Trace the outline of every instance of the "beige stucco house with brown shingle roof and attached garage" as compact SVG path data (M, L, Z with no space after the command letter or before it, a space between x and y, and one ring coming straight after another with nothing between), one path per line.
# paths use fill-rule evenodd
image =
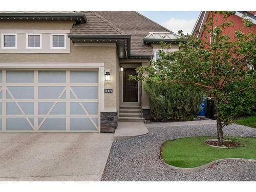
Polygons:
M135 11L1 11L0 130L114 132L149 114L141 82L165 37Z

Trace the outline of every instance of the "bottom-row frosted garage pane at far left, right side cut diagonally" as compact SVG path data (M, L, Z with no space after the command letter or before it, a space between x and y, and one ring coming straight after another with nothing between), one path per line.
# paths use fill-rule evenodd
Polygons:
M33 131L26 118L6 118L7 131Z

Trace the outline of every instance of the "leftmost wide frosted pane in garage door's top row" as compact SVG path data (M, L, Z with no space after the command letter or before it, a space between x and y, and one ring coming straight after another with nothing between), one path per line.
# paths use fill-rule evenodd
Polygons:
M8 83L33 83L34 71L6 71Z

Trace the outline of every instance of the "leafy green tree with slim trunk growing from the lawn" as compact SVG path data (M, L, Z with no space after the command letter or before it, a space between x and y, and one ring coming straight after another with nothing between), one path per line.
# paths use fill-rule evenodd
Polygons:
M216 14L223 15L220 25L215 25ZM234 12L211 11L204 24L210 42L206 40L208 36L200 39L179 31L178 51L160 50L161 59L153 61L149 67L137 69L139 74L147 75L130 77L137 81L157 79L159 83L194 86L213 96L219 145L223 145L223 127L230 124L234 116L255 108L255 31L244 34L241 29L235 32L234 39L230 39L223 31L233 25L228 20L232 14ZM243 22L244 28L253 25L246 17L243 17ZM161 47L168 50L171 45L161 42Z

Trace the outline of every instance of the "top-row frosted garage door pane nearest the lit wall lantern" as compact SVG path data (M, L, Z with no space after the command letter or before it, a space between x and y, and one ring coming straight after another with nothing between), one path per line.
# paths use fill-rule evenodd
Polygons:
M98 83L98 71L70 71L71 83Z

